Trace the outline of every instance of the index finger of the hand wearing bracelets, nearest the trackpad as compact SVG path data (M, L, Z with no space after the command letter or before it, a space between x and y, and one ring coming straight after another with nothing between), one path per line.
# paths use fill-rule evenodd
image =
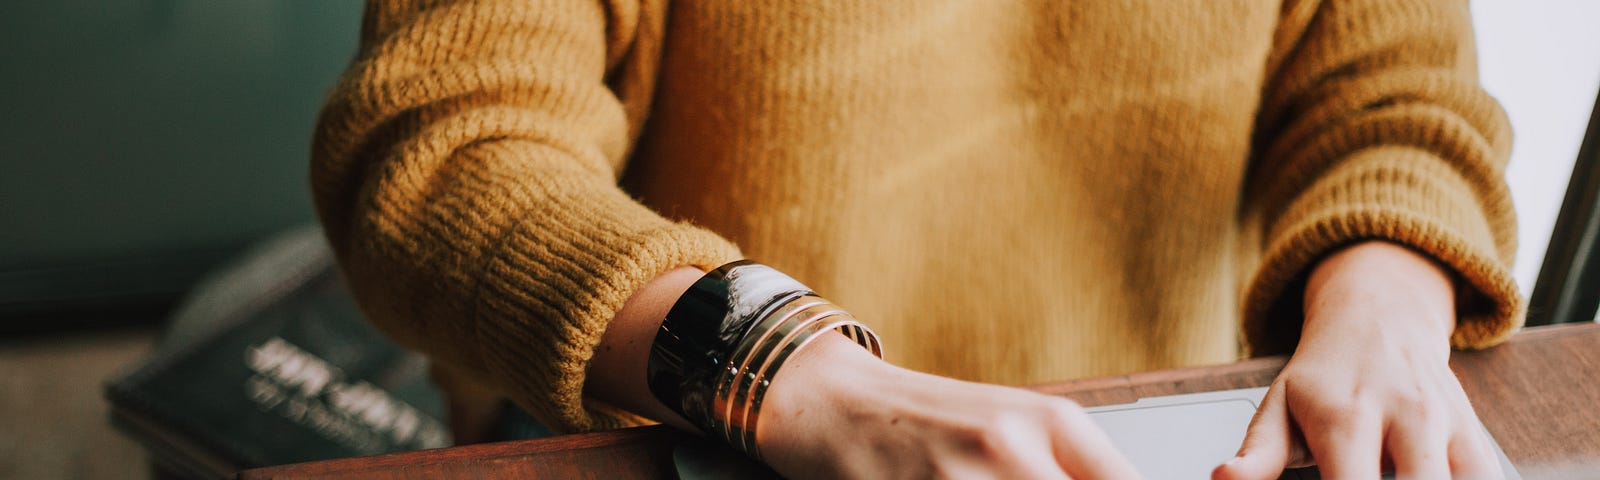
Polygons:
M1056 462L1072 478L1141 478L1139 470L1117 451L1110 437L1090 419L1088 413L1072 403L1056 406L1054 446Z

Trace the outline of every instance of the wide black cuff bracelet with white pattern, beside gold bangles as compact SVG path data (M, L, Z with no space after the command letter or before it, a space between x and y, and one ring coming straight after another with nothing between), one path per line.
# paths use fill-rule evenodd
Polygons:
M650 347L650 392L704 432L714 432L712 397L750 326L811 290L773 267L736 261L706 274L678 298Z

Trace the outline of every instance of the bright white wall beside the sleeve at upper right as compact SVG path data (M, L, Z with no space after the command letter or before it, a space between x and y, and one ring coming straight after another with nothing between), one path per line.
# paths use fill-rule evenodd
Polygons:
M1478 0L1472 16L1483 86L1517 133L1506 178L1520 222L1515 275L1531 293L1600 90L1600 2Z

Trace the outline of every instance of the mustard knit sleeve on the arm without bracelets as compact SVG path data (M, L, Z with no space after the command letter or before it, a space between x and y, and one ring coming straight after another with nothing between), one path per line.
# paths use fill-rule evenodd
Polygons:
M1307 270L1371 238L1453 272L1454 347L1520 328L1510 128L1477 82L1467 2L1290 0L1274 40L1243 211L1262 251L1251 349L1293 349Z

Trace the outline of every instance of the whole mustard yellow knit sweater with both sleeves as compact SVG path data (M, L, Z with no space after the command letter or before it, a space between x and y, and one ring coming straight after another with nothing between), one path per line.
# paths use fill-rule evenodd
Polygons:
M1522 323L1466 2L371 2L312 186L373 322L558 430L606 322L752 258L1030 384L1285 352L1387 238Z

